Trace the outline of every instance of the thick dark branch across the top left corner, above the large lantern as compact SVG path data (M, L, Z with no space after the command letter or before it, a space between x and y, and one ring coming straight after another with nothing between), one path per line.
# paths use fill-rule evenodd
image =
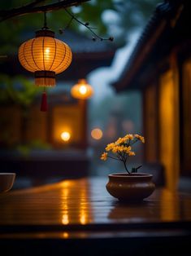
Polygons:
M2 22L3 20L11 19L15 16L27 15L29 13L58 11L67 7L78 6L81 2L87 1L89 0L63 0L37 7L39 3L45 2L45 0L37 0L29 3L28 5L25 5L24 7L14 8L8 11L0 11L0 22Z

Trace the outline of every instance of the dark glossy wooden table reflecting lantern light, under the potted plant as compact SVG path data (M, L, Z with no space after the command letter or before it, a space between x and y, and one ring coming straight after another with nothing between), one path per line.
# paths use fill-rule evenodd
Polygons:
M121 204L106 182L72 179L0 194L3 255L187 255L190 194L156 189L140 204Z

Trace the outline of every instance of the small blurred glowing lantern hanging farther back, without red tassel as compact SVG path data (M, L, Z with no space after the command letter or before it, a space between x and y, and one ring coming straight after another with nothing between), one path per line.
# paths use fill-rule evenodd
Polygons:
M93 88L85 79L80 79L72 86L71 94L76 99L89 99L93 95Z

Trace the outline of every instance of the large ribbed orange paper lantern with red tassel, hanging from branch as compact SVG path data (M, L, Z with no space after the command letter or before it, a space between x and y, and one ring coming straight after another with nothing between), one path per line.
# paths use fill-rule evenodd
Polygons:
M72 51L66 43L54 38L45 25L36 37L24 42L19 49L20 64L34 73L35 85L55 86L55 75L62 73L72 62ZM46 91L41 98L41 111L47 110Z

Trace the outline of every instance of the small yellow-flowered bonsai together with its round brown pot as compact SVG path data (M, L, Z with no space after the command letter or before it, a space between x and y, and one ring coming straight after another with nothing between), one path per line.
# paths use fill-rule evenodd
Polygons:
M111 158L124 164L126 172L109 174L106 184L106 190L119 201L140 201L154 192L152 174L138 173L141 166L133 167L132 170L128 168L128 157L135 156L132 145L137 142L145 143L145 138L141 135L125 135L114 143L109 143L101 156L103 161Z

